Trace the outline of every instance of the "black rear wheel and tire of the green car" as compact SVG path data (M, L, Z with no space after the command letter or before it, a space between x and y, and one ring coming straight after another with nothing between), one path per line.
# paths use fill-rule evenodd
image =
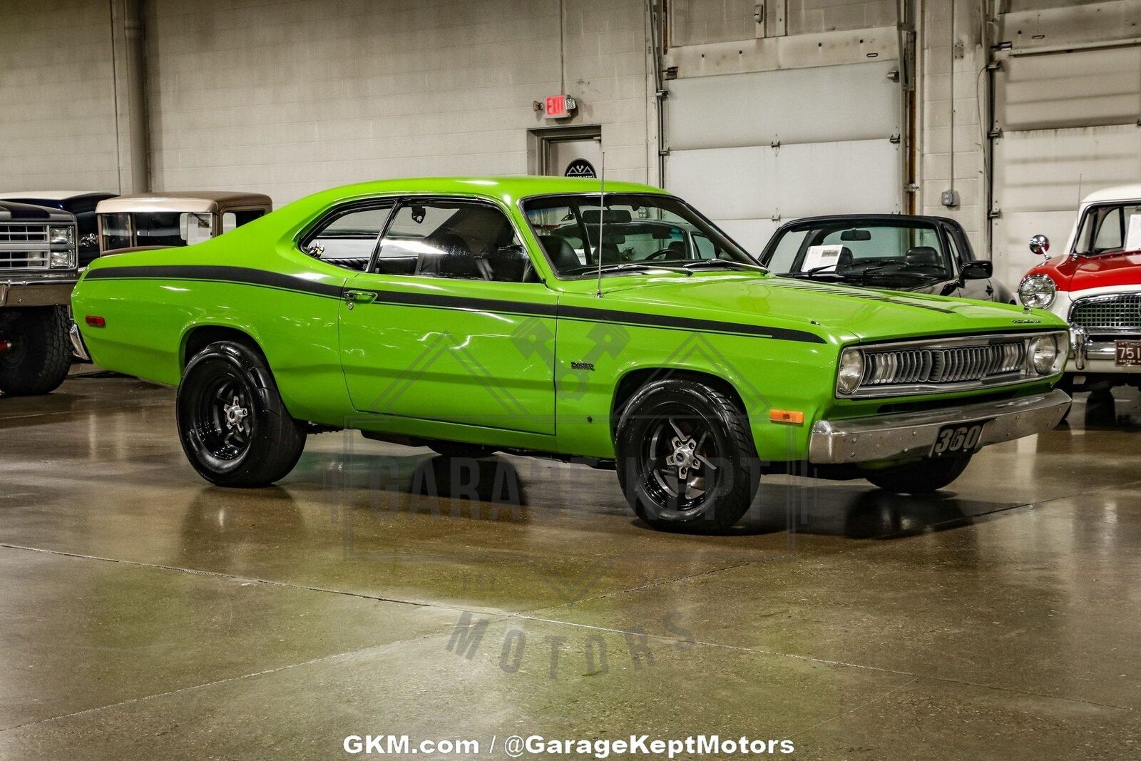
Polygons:
M186 459L219 486L267 486L305 448L305 423L285 410L261 354L242 343L218 341L194 355L176 407Z

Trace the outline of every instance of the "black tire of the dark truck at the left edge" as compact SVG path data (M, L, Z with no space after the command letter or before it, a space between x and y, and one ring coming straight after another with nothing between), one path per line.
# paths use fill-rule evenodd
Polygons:
M0 391L34 396L59 388L71 369L67 307L13 309L0 324Z

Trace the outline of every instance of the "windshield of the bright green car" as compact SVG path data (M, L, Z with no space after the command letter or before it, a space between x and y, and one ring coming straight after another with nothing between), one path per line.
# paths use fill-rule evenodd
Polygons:
M523 205L551 266L565 277L604 273L695 268L707 264L760 269L712 222L667 195L598 194L543 196Z

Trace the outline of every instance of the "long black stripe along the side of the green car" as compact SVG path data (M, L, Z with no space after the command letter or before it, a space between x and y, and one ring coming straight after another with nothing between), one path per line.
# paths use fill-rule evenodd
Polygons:
M315 283L302 277L272 273L248 267L226 267L213 265L152 265L139 267L100 267L88 270L88 280L195 280L219 281L245 285L259 285L300 293L331 297L340 299L342 289L339 285ZM674 315L648 315L616 309L594 309L592 307L557 307L553 303L531 303L527 301L508 301L503 299L479 299L438 293L408 293L405 291L367 290L377 294L378 303L402 305L410 307L437 307L444 309L464 309L469 311L499 311L504 314L528 315L535 317L560 317L588 322L621 323L647 327L664 327L669 330L704 331L715 333L733 333L738 335L755 335L782 341L799 341L802 343L826 343L826 341L808 331L787 327L766 327L745 323L730 323L717 319L698 319L678 317Z

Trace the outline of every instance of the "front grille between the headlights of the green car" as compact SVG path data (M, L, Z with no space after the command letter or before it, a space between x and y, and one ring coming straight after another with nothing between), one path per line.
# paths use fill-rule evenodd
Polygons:
M947 348L876 349L864 353L860 386L965 383L1020 373L1026 364L1022 339Z

